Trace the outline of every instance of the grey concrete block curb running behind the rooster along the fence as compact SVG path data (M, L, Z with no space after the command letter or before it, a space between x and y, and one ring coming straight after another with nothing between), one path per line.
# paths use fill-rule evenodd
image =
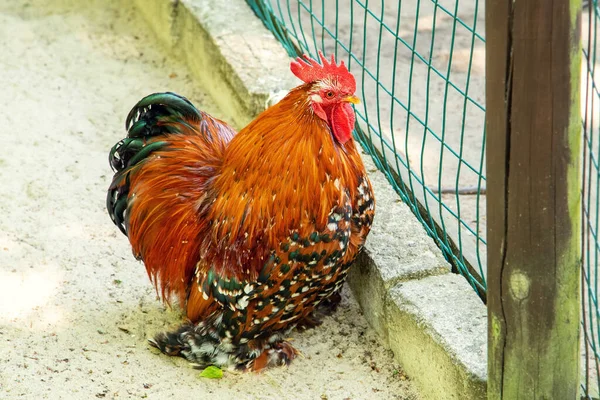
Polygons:
M244 126L296 85L289 57L244 0L135 0L152 30ZM426 399L486 397L486 308L364 157L377 195L366 251L348 281L365 317Z

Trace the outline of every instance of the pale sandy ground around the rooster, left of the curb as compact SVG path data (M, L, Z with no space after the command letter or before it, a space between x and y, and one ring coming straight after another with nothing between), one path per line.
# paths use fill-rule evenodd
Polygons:
M132 10L60 3L0 0L0 398L416 399L347 293L289 368L205 380L148 346L180 310L106 214L108 150L153 91L227 116Z

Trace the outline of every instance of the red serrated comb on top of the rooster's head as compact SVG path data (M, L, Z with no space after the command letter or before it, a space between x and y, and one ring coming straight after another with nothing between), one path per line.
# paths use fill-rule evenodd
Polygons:
M340 65L335 63L335 57L333 54L331 55L331 61L327 61L323 53L319 51L319 58L321 59L322 65L306 54L304 54L302 57L298 57L296 61L292 61L290 69L292 70L292 73L300 78L303 82L310 83L331 77L350 93L354 93L356 91L356 80L354 79L354 76L352 76L350 71L348 71L348 68L346 68L346 65L343 61L340 63Z

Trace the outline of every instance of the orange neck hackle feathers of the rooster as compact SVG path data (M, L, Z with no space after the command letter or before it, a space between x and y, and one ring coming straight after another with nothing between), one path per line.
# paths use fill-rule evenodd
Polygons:
M212 243L221 248L207 245L208 252L227 248L239 257L236 249L273 248L291 230L325 228L331 207L355 196L360 156L313 114L309 87L292 90L229 143L211 205Z

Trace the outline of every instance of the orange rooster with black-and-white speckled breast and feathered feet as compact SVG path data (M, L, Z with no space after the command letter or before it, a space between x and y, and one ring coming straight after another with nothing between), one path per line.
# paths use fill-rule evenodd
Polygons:
M239 133L174 93L142 99L110 151L107 208L187 322L150 343L199 366L258 371L335 308L374 216L352 138L356 81L304 56L304 83Z

